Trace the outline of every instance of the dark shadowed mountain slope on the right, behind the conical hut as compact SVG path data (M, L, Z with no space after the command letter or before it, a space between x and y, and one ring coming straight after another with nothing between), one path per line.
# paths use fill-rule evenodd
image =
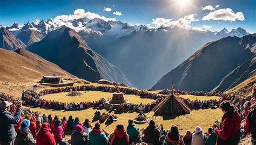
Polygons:
M168 88L171 81L180 90L211 91L215 88L224 91L231 88L253 76L255 43L255 34L210 42L164 75L152 89Z

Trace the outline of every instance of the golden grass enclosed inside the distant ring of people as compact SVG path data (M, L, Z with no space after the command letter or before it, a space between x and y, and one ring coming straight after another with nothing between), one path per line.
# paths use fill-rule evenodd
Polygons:
M68 92L62 92L62 93L53 93L49 95L45 95L42 98L46 100L55 100L57 102L68 102L68 103L80 103L80 102L92 102L92 101L97 101L100 98L112 98L112 94L110 92L102 92L102 91L80 91L82 95L80 96L66 96ZM135 95L124 95L124 98L129 100L130 103L132 104L148 104L154 102L152 99L142 99L138 96Z

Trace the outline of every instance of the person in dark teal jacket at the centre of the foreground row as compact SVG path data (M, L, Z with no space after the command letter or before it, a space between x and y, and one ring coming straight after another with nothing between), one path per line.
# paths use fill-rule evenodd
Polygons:
M139 128L135 127L135 124L132 119L128 120L128 126L126 128L127 134L129 135L130 144L131 143L140 143L139 135Z

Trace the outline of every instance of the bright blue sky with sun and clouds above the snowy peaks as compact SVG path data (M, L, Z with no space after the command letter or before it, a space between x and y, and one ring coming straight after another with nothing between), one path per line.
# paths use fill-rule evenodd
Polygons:
M205 28L212 31L219 31L224 27L228 31L242 27L250 33L256 33L255 0L0 0L0 3L0 25L4 26L14 22L25 24L36 19L54 19L56 16L73 14L75 10L83 9L85 12L90 11L106 18L116 18L129 24L150 24L149 26L156 27L162 24L180 25L184 20L185 27ZM211 5L212 8L208 6L205 8L207 10L202 10L207 5ZM215 8L216 5L219 7ZM104 8L110 8L111 11L103 11ZM120 12L122 16L116 16L113 12ZM229 15L220 15L223 12Z

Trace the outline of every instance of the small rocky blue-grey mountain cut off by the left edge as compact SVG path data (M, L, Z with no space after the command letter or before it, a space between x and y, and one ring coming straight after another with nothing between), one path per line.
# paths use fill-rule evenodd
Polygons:
M7 50L24 49L26 45L6 28L0 28L0 48Z

